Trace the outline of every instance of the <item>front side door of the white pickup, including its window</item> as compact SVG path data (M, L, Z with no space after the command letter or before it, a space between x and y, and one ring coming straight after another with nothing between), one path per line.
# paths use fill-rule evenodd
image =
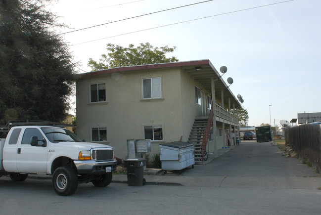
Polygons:
M24 130L22 141L17 149L17 169L18 172L46 173L47 146L32 146L31 137L38 136L39 140L45 137L37 128L27 128ZM48 144L48 142L47 142Z

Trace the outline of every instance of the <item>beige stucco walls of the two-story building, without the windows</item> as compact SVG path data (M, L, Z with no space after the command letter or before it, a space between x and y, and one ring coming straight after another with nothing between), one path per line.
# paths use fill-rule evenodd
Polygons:
M142 79L161 77L162 99L142 100ZM90 103L90 84L106 83L106 102ZM76 84L77 134L91 141L91 128L106 127L107 141L115 156L125 158L127 139L143 139L143 126L162 125L163 141L152 142L151 154L159 143L187 141L195 116L194 81L180 69L128 72L86 78Z

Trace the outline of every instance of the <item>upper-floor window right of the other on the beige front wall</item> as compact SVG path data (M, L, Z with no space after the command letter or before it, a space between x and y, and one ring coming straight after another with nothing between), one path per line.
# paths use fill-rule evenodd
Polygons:
M142 80L142 97L144 99L162 97L162 87L161 87L160 77Z

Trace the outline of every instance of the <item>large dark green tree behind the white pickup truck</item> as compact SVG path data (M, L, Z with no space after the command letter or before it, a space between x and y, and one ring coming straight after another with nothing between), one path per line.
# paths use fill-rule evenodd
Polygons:
M60 122L70 108L76 72L49 1L0 0L0 124Z

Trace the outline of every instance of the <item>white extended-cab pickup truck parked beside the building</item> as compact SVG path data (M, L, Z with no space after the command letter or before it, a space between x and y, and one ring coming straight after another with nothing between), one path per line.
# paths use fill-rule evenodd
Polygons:
M28 173L49 174L61 196L73 194L79 183L107 186L116 170L112 147L83 142L67 129L16 126L0 142L0 177L23 181Z

